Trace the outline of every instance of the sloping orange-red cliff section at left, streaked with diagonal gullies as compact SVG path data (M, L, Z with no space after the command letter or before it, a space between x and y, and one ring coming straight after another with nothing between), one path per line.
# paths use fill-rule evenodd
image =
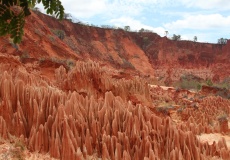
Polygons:
M68 20L59 22L43 14L33 14L27 21L30 23L26 29L35 32L30 38L36 43L41 42L49 55L67 58L66 55L71 53L72 58L92 59L117 69L136 70L143 75L154 74L145 52L133 42L128 32L73 24ZM31 31L32 26L37 27ZM53 34L58 31L63 33L63 40ZM44 39L51 43L45 43Z

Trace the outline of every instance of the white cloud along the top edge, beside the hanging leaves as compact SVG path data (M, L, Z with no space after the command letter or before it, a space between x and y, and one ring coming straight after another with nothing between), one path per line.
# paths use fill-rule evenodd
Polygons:
M66 12L78 18L139 16L148 9L167 5L170 0L61 0Z

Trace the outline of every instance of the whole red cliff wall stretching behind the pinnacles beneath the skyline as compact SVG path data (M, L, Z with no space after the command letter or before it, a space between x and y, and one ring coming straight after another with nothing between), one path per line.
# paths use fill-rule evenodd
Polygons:
M172 41L155 33L57 21L41 13L33 13L27 22L19 51L8 49L7 52L15 55L29 52L31 58L40 59L91 59L127 73L151 75L171 82L186 74L220 82L230 74L230 42L220 45ZM6 52L6 48L9 46L3 46L2 51Z

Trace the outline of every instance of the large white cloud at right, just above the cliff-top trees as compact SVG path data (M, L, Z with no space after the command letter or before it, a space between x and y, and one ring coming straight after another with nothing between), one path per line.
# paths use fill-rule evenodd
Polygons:
M230 32L230 16L220 14L190 15L163 25L170 35L180 34L183 40L193 40L198 37L199 42L216 43L218 38L228 38Z

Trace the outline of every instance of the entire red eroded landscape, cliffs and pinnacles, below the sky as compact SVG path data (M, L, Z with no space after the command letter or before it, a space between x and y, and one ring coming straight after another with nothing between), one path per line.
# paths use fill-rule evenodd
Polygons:
M229 49L32 13L0 38L0 158L230 159L229 89L171 86L228 80Z

